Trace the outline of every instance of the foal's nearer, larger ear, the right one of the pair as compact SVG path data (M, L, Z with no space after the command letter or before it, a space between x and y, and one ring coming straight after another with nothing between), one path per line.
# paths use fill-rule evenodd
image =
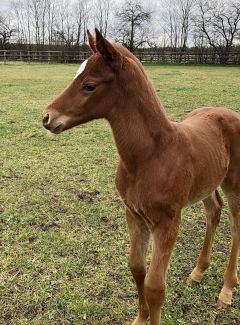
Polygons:
M119 53L115 47L106 40L99 32L97 28L96 31L96 47L99 53L102 54L104 60L113 68L121 68L122 66L122 55Z

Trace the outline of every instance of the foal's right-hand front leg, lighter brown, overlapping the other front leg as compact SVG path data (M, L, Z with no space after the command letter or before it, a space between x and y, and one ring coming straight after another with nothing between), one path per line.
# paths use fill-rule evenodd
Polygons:
M161 218L161 217L160 217ZM159 325L165 298L165 282L169 259L178 234L180 214L165 216L153 230L153 256L145 278L145 296L150 313L150 325Z

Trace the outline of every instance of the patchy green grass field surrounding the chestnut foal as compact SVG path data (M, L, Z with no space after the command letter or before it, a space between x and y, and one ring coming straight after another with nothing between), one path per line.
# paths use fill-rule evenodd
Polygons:
M0 66L0 324L127 325L136 290L127 266L124 208L114 186L117 154L106 122L59 136L41 111L76 65ZM199 106L240 111L240 68L154 66L146 70L168 114ZM216 308L230 249L224 208L210 269L185 284L201 248L202 205L183 212L171 259L163 325L240 324L240 290Z

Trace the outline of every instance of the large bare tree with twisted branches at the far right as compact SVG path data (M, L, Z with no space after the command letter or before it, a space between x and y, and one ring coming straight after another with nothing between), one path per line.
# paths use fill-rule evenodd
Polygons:
M240 2L200 1L195 22L220 63L226 64L240 29Z

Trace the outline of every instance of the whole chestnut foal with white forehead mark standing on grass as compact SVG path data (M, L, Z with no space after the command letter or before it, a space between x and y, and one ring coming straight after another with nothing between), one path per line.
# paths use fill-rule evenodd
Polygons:
M72 83L45 109L43 125L60 133L93 119L108 120L120 162L116 186L126 205L139 312L134 325L159 325L165 281L181 209L202 200L206 236L189 281L200 282L210 264L222 208L220 185L231 210L232 250L219 295L230 305L237 285L240 246L240 115L201 108L178 123L168 119L140 62L96 30L88 33L93 55ZM152 261L145 255L152 235Z

